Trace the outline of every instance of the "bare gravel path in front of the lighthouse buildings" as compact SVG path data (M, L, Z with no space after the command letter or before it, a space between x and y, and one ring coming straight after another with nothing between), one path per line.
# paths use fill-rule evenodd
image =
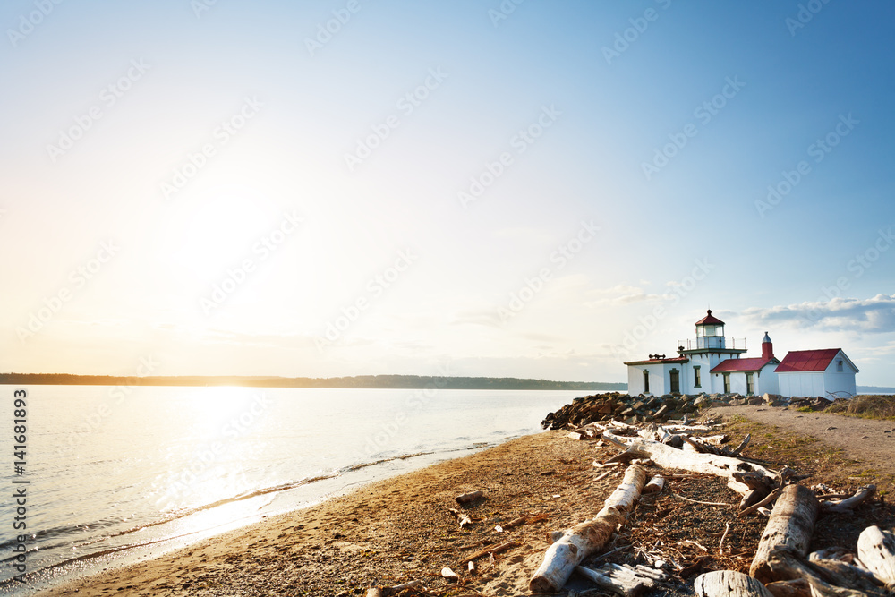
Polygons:
M895 421L858 419L828 413L799 413L792 408L727 406L707 411L709 418L740 414L754 422L777 425L842 448L856 460L873 463L884 473L895 474Z

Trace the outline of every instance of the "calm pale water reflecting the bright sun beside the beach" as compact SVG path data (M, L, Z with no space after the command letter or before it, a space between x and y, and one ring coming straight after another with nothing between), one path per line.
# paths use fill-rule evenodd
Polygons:
M13 390L4 393L12 425ZM28 388L26 594L540 431L580 391ZM410 456L410 457L407 457ZM14 489L9 489L12 496ZM7 580L14 499L0 499ZM37 547L38 550L34 550Z

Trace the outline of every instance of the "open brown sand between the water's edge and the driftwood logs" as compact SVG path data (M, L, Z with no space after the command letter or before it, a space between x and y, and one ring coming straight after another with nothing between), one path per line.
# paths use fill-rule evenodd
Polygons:
M564 528L587 510L568 508L574 488L587 482L593 458L587 442L565 439L565 433L544 431L510 439L468 456L364 484L302 510L268 516L257 523L216 535L124 567L97 571L42 589L38 597L55 595L225 595L225 594L363 594L376 584L422 579L430 589L447 589L441 567L456 567L457 542L470 532L456 528L447 508L454 497L484 490L486 498L468 508L476 530L494 541L516 539L520 547L499 558L501 567L485 569L477 580L505 584L499 574L507 566L527 586L524 560L541 557L546 531ZM561 473L561 474L556 474ZM537 495L533 493L537 490ZM584 490L584 494L592 492ZM557 497L554 497L557 496ZM576 496L575 500L580 500ZM526 514L546 514L549 524L517 527L497 533L499 525ZM421 537L420 526L426 526ZM549 528L548 528L549 527ZM442 549L433 547L432 541ZM422 539L426 546L402 549ZM443 545L442 545L443 544ZM396 557L396 552L400 553ZM428 553L427 553L428 552ZM329 562L329 565L327 563ZM533 569L533 568L532 568ZM459 570L458 570L459 571ZM493 575L493 577L492 577ZM260 581L261 578L270 579ZM504 580L501 580L504 578ZM510 589L495 586L498 593ZM511 591L512 592L512 591Z

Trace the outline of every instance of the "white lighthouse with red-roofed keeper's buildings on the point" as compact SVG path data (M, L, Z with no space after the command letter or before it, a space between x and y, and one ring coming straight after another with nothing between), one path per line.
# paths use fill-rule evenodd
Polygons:
M629 394L855 395L859 370L840 348L790 351L780 361L765 332L762 355L743 358L746 339L725 337L724 322L711 309L695 326L695 341L678 341L677 356L625 363Z

